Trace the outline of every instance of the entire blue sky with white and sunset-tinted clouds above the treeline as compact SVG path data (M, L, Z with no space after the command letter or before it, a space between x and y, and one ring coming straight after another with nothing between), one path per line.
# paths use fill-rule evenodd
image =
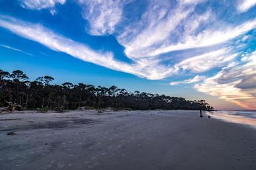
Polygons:
M256 110L256 0L0 0L0 69Z

